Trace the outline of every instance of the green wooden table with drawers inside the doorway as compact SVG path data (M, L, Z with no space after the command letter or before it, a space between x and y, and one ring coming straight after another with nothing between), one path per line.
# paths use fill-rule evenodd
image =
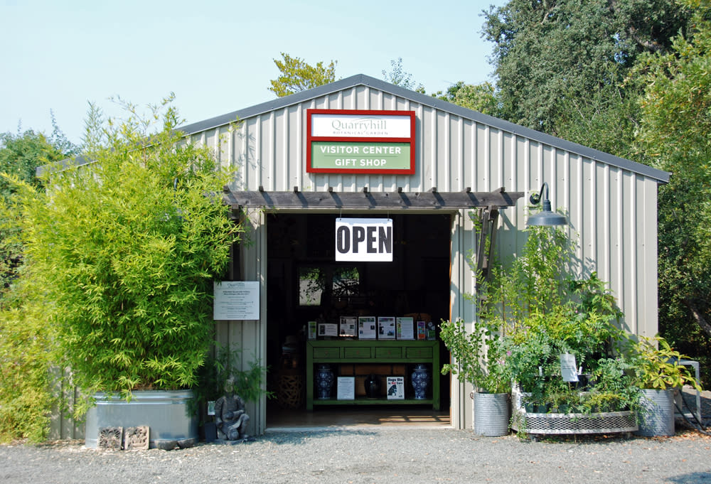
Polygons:
M432 398L415 399L405 392L405 399L370 399L356 396L353 400L339 400L336 398L334 384L331 399L314 399L314 367L321 363L405 363L409 364L409 373L415 364L429 363L432 365ZM439 410L439 370L439 341L309 340L306 342L306 409L313 410L314 405L432 404L433 409ZM407 388L410 375L399 376L405 376ZM338 372L334 372L334 377L338 377Z

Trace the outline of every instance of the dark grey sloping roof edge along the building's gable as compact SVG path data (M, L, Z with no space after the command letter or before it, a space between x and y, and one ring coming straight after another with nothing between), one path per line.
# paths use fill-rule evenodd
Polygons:
M668 183L669 181L670 173L667 171L658 170L657 168L652 168L651 166L643 165L642 163L637 163L636 161L631 161L626 158L620 158L619 156L614 156L609 153L605 153L604 151L592 149L587 146L583 146L582 144L573 143L572 141L566 141L565 139L560 139L555 136L551 136L550 134L536 131L535 129L513 124L512 122L504 121L503 119L498 119L496 117L489 116L488 114L482 114L481 112L474 111L473 109L467 109L466 107L451 104L451 102L438 100L436 97L411 91L409 89L405 89L404 87L390 84L390 82L385 82L384 80L376 79L375 77L370 77L364 74L346 77L346 79L331 82L331 84L314 87L313 89L306 91L296 92L296 94L279 97L273 101L262 102L261 104L256 104L252 107L239 109L218 117L205 119L201 122L186 124L178 129L183 131L185 134L194 134L200 131L225 126L231 122L234 122L235 119L247 119L249 117L256 116L257 114L264 114L269 111L283 109L284 107L288 107L293 104L299 104L318 97L324 97L333 92L346 90L358 85L372 87L391 95L402 97L412 102L417 102L418 104L423 104L424 106L429 106L443 112L454 114L464 119L471 119L471 121L480 124L486 124L493 128L501 129L502 131L508 131L512 134L538 141L542 144L570 151L571 153L579 154L585 158L591 158L596 161L607 163L611 166L639 173L643 176L653 178L660 183Z

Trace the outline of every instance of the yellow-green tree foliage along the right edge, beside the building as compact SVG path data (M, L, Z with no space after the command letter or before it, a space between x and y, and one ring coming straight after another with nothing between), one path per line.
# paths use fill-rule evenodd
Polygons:
M673 175L659 189L660 330L675 346L711 362L711 2L693 9L670 53L648 55L635 71L641 97L638 143L649 163ZM708 370L705 370L706 372Z

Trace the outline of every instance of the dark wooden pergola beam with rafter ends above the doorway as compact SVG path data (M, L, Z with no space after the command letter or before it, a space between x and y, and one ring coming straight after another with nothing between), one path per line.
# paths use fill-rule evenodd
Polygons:
M289 192L232 191L225 187L223 198L232 210L240 208L284 209L438 209L459 210L479 207L513 207L523 192L507 192L504 188L492 192L440 192L437 188L426 192L373 192L364 187L358 192L304 192L294 187Z

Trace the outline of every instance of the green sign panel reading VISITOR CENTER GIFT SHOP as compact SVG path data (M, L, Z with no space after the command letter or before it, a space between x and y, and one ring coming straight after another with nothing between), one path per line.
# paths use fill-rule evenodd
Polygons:
M311 141L311 168L316 170L407 170L410 143Z

